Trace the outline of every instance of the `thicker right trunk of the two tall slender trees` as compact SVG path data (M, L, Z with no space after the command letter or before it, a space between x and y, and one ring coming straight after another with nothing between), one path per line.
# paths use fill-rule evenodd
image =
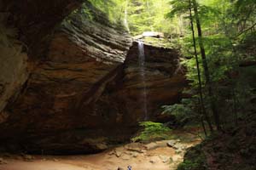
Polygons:
M200 49L201 49L201 59L202 59L203 67L204 67L204 73L205 73L205 77L206 77L208 95L210 97L210 105L211 105L211 108L212 108L212 114L214 116L214 121L215 121L215 124L216 124L216 127L217 127L218 131L221 131L222 129L221 129L221 126L220 126L217 106L216 106L216 103L213 99L212 82L211 82L211 79L210 79L209 69L208 69L208 65L207 65L206 51L205 51L205 48L204 48L204 44L202 42L202 32L201 32L201 23L200 23L199 14L198 14L198 6L197 6L197 3L196 3L196 0L192 0L192 1L193 1L193 8L194 8L194 11L195 11L195 20L196 20L196 26L197 26L197 31L198 31L199 46L200 46Z

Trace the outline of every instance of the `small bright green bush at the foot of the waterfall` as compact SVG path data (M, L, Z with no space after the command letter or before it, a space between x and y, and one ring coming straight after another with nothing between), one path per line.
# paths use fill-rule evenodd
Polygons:
M171 132L170 128L165 127L160 122L140 122L139 125L143 127L143 131L137 137L131 139L134 142L167 139L169 138L168 133Z

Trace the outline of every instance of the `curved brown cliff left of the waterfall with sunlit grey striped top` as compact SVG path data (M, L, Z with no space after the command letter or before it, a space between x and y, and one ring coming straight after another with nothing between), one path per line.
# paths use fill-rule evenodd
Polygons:
M104 129L111 122L81 105L90 108L119 72L131 37L105 23L103 15L93 20L78 10L55 28L48 53L32 63L22 92L4 111L8 119L0 125L3 141L45 153L106 149Z

